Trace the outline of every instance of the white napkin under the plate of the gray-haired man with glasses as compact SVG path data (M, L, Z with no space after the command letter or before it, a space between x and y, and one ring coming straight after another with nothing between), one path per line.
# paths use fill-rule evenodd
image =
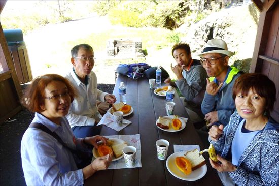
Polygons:
M109 128L112 128L116 130L117 132L121 131L123 128L127 127L130 125L132 122L126 119L123 119L123 123L121 125L118 125L116 121L114 120L114 116L112 116L110 113L106 113L102 116L100 122L98 123L97 126L99 125L106 125Z

